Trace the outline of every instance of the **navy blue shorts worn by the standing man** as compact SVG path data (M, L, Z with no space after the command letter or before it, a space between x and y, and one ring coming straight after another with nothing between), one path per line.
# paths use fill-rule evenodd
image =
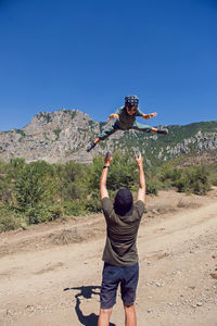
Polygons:
M116 303L116 293L119 284L122 300L125 305L133 304L138 279L138 263L132 266L113 266L104 263L100 292L101 309L111 309Z

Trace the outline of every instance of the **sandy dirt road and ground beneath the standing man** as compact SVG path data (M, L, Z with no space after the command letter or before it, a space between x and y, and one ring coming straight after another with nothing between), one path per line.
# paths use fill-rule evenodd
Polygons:
M217 188L162 191L139 236L138 326L217 326ZM0 326L97 325L102 215L0 235ZM111 326L124 325L119 293Z

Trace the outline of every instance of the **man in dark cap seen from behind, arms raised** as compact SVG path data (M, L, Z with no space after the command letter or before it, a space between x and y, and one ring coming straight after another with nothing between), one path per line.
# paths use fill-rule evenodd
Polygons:
M141 153L136 155L139 166L139 191L133 204L129 189L117 191L114 203L110 200L106 179L112 156L105 158L100 180L100 197L106 221L106 243L102 260L102 286L100 293L100 315L98 326L108 326L113 305L116 303L117 287L120 284L122 300L125 310L125 325L136 326L136 290L139 279L137 234L145 202L145 177Z

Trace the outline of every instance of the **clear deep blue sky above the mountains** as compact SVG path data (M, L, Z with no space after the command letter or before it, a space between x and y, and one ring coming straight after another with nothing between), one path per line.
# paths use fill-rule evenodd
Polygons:
M216 0L0 0L0 130L126 95L152 125L216 120Z

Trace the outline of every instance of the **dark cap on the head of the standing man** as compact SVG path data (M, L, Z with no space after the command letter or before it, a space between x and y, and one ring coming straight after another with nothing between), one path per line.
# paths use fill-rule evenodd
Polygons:
M129 216L133 211L133 198L127 188L119 189L115 196L114 210L117 215Z

